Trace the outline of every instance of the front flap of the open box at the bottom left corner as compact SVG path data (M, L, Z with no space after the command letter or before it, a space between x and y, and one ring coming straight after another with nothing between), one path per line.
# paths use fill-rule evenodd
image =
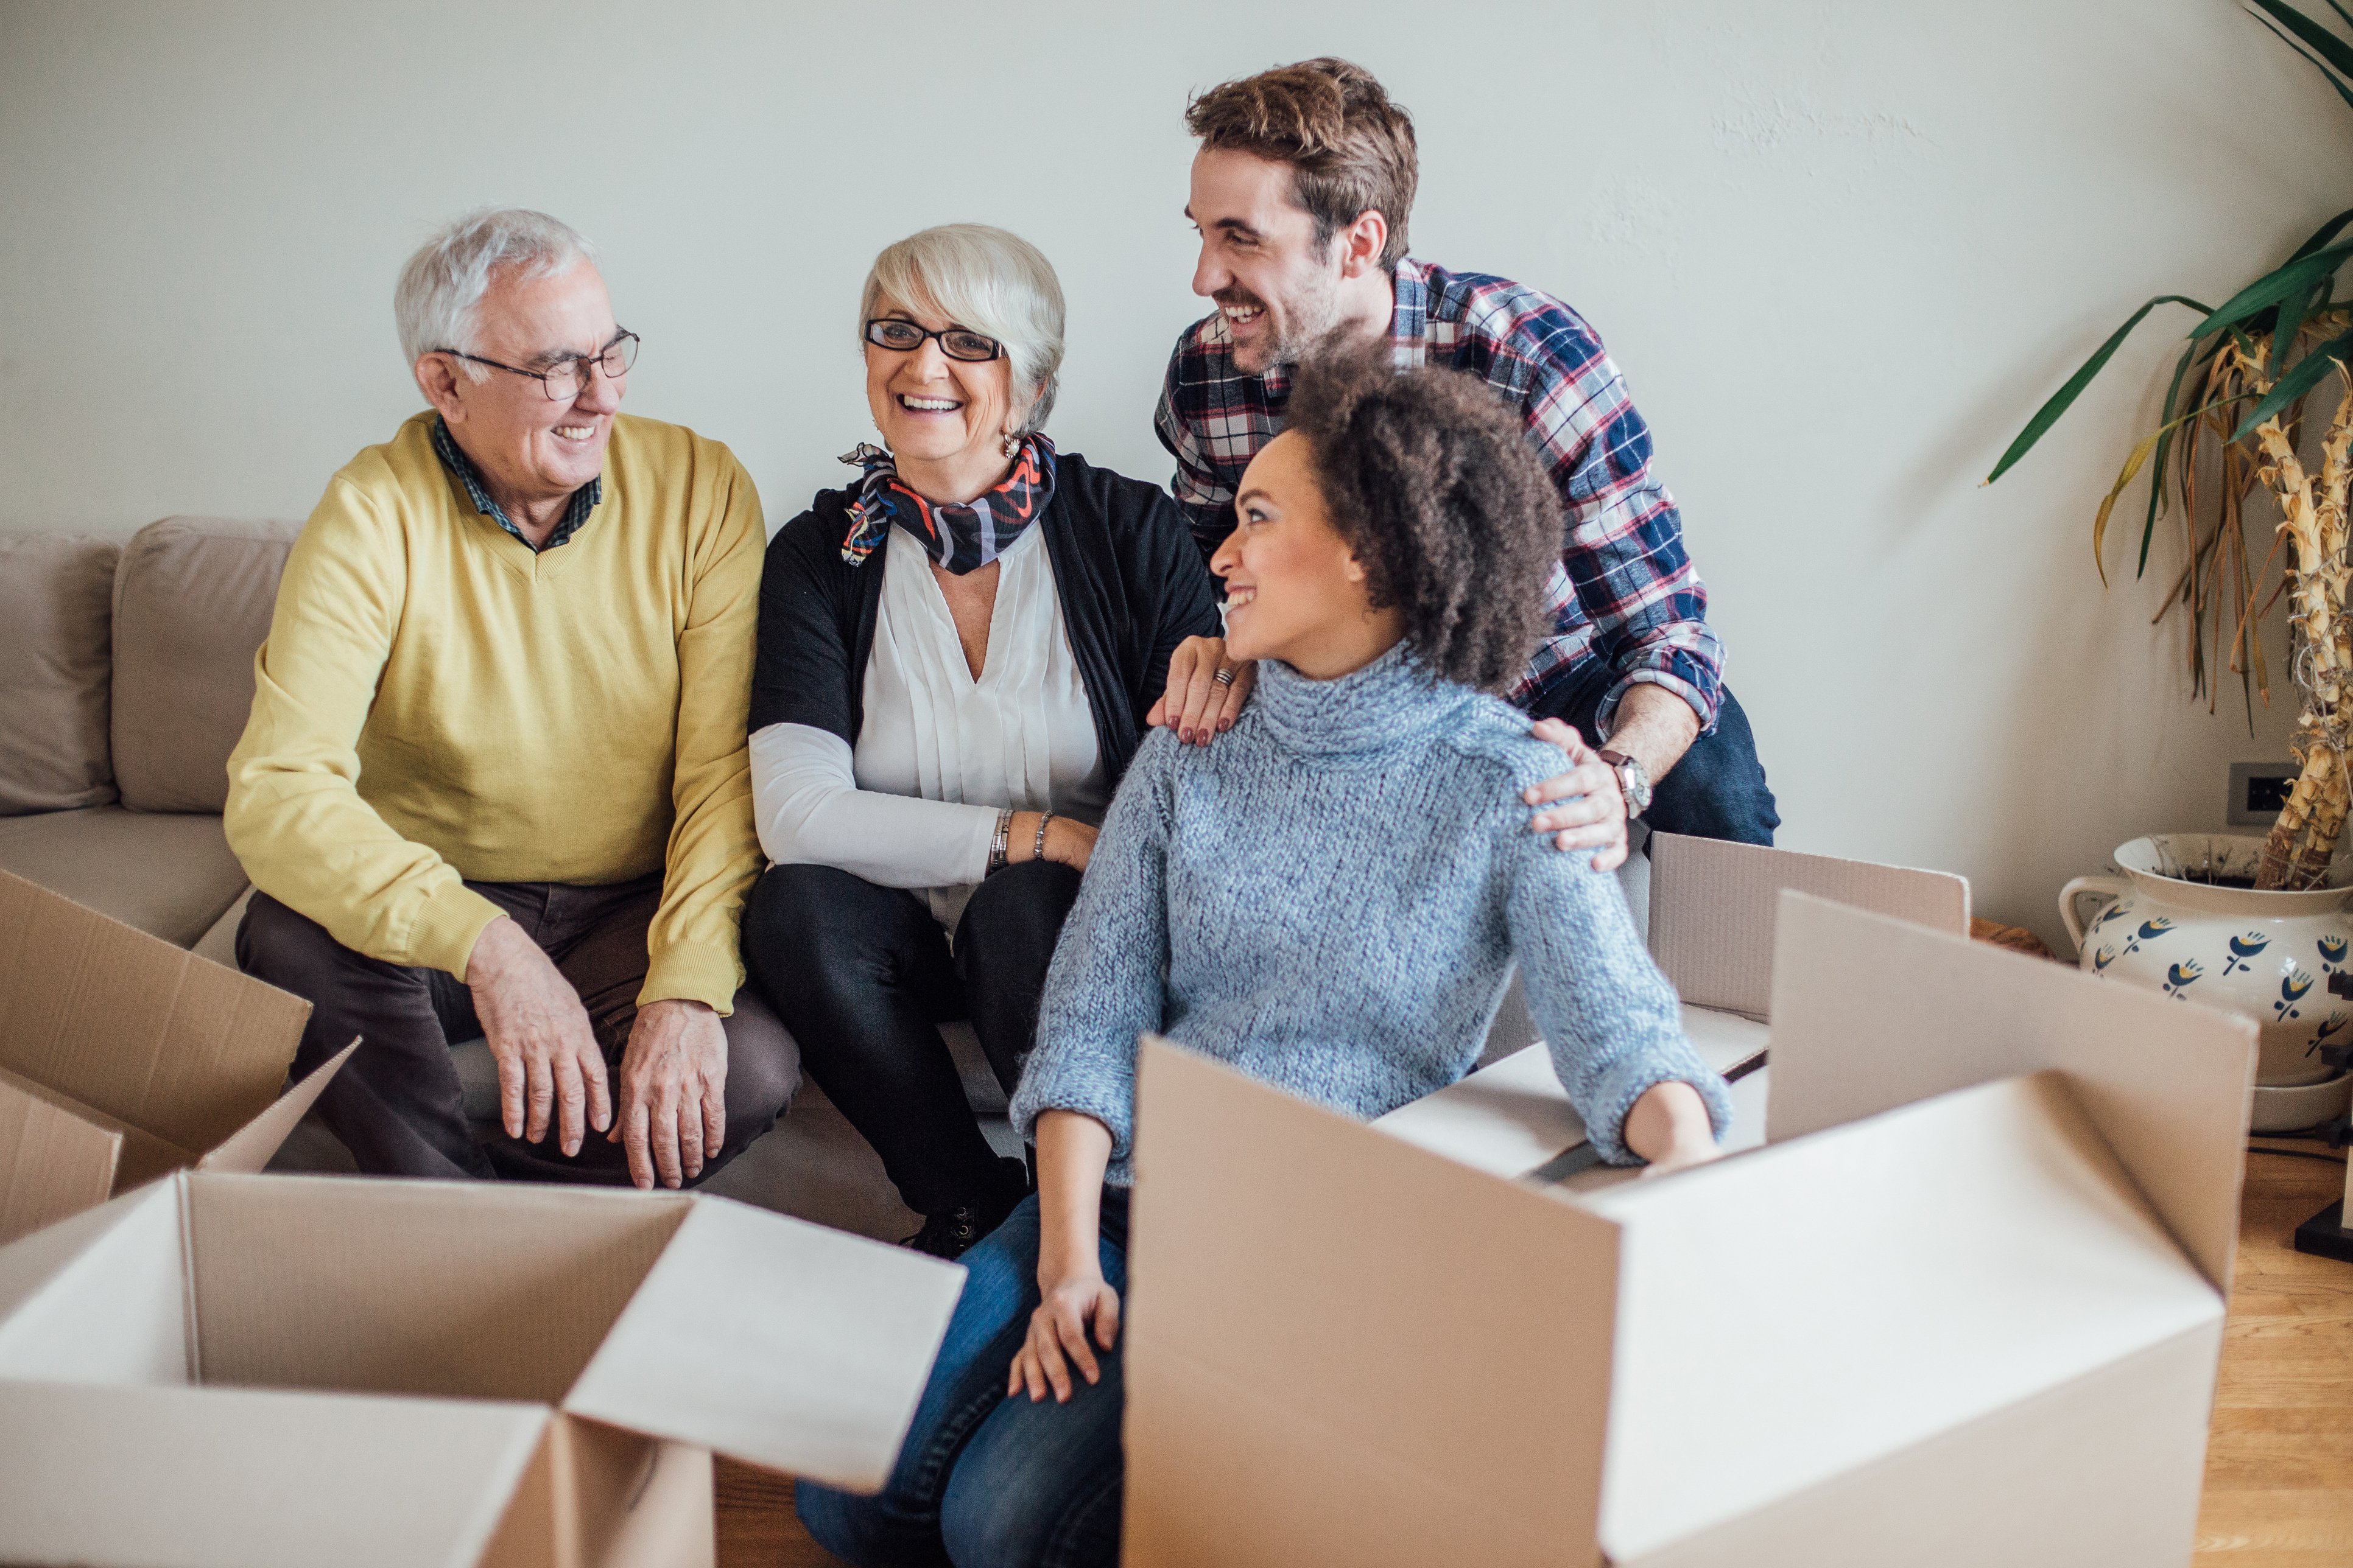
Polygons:
M473 1568L546 1406L9 1385L0 1561Z

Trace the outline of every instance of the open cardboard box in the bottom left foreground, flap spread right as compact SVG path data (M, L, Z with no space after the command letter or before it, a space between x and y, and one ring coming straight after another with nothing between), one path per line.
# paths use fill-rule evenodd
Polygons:
M962 1267L727 1199L176 1173L0 1248L0 1561L708 1566L875 1490Z

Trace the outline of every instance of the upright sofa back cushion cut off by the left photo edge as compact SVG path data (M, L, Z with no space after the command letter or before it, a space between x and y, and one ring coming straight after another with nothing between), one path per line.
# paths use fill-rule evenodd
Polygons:
M108 628L122 543L0 534L0 816L104 806Z

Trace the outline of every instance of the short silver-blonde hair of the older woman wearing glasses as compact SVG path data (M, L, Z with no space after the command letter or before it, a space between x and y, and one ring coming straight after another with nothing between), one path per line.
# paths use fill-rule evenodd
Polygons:
M859 343L882 299L927 303L1005 343L1014 395L1038 393L1021 433L1045 428L1061 386L1061 280L1035 244L988 223L925 228L875 256L859 296Z

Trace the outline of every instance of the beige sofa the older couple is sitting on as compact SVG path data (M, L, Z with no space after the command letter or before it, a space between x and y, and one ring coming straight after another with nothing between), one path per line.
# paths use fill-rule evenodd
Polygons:
M235 966L247 882L221 835L228 752L296 534L221 517L129 538L0 534L0 867ZM944 1034L991 1140L1019 1152L972 1032ZM454 1056L468 1110L496 1117L487 1046ZM351 1171L351 1157L308 1124L280 1166ZM873 1237L918 1225L814 1084L711 1190Z

